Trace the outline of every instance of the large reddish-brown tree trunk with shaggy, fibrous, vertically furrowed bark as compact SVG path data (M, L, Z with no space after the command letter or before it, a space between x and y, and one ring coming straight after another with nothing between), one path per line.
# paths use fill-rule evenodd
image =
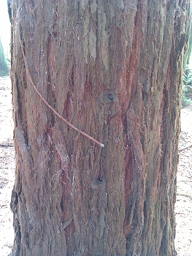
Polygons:
M14 255L177 255L189 0L11 7Z

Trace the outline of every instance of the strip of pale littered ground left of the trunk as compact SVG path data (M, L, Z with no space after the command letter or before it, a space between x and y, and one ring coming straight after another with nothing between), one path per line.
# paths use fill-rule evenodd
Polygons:
M14 232L9 203L15 179L15 151L12 144L12 95L9 77L0 78L0 255L12 250Z

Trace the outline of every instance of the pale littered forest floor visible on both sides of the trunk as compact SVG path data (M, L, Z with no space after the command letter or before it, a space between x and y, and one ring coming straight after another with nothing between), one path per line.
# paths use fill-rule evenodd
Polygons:
M192 255L192 105L181 110L180 162L175 205L178 256ZM11 255L14 240L10 198L15 178L12 94L9 77L0 78L0 255ZM188 148L187 148L188 147ZM167 255L168 256L168 255Z

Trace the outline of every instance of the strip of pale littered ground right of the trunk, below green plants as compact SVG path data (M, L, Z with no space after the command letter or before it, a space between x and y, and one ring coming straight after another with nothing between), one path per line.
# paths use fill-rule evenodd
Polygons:
M179 256L192 255L192 106L181 110L180 162L177 172L176 240ZM185 148L182 150L182 148Z

